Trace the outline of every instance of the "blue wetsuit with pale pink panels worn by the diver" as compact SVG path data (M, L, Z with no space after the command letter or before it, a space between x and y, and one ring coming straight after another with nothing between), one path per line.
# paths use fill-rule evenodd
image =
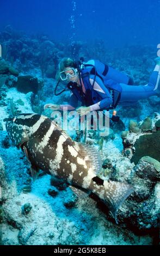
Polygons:
M82 89L83 97L77 88L72 90L70 102L68 106L74 109L81 101L83 105L90 106L91 111L109 109L115 101L118 105L128 106L136 103L138 100L146 99L152 95L157 94L160 66L152 72L149 83L145 86L131 86L130 78L119 71L116 71L107 65L99 62L99 60L90 60L87 64L96 66L96 79L94 83L94 74L86 76L86 72L91 68L86 68L82 71ZM94 87L93 87L94 83ZM114 91L113 97L110 94ZM82 93L81 93L82 94ZM82 101L84 100L84 102ZM63 107L63 105L61 105Z

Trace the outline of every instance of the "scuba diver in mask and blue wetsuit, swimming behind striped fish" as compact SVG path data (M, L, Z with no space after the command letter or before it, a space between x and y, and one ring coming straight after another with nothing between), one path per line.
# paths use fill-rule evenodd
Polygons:
M116 108L117 105L130 106L138 100L146 99L157 94L160 78L160 57L156 59L156 66L153 70L149 83L145 86L133 85L132 78L126 74L114 70L112 67L99 60L89 60L84 63L83 58L76 63L70 58L63 58L58 66L58 83L54 91L55 95L60 81L67 82L67 88L71 91L68 105L56 105L48 103L44 109L74 110L81 102L81 107L76 111L79 115L88 114L91 111L102 111ZM119 121L119 117L112 116L113 121Z

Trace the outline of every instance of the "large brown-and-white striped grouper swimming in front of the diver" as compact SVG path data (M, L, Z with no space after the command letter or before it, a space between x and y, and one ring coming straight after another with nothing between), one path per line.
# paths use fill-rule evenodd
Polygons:
M26 154L33 176L41 169L69 183L79 196L96 194L114 217L134 190L124 182L100 179L101 159L95 148L73 141L44 115L17 115L7 121L6 129L11 141Z

